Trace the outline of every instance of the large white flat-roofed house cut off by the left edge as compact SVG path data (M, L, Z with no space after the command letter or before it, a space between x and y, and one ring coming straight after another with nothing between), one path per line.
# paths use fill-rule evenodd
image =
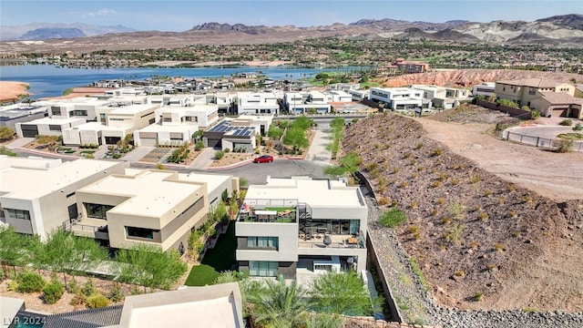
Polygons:
M63 162L0 156L0 220L44 240L49 232L77 219L77 190L121 174L125 167L124 162L95 159Z

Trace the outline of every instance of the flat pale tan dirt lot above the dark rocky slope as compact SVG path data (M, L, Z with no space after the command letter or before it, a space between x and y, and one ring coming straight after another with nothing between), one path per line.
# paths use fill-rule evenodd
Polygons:
M551 200L583 200L583 152L557 154L494 138L488 135L494 128L493 122L506 116L485 111L482 123L455 117L450 117L454 120L450 122L435 119L439 117L421 118L419 122L427 132L426 137L445 144L459 156L475 160L480 168L502 179Z

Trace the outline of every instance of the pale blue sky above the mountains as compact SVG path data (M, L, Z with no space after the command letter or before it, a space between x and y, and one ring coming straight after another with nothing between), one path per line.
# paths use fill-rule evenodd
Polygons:
M445 22L532 21L583 14L582 0L0 0L0 25L85 23L185 31L207 22L247 26L324 26L363 18Z

